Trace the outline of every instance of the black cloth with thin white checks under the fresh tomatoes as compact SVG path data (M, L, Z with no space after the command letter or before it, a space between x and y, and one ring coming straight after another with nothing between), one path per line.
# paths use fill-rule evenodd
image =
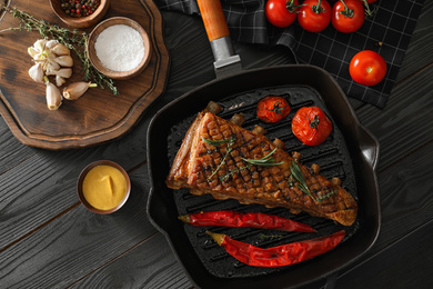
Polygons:
M195 0L154 0L162 10L200 14ZM302 2L302 1L300 1ZM331 6L333 1L330 1ZM303 30L295 21L289 28L272 27L264 14L265 0L221 0L231 38L242 43L288 47L299 63L330 72L345 94L384 108L415 29L424 0L379 0L373 18L353 33L338 32L332 24L319 33ZM354 82L349 73L352 57L361 50L379 52L387 63L383 81L374 87Z

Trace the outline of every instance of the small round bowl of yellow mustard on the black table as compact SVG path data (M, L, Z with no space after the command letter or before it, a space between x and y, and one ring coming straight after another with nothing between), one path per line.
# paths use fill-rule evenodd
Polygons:
M128 200L131 181L117 162L98 160L87 166L77 182L81 203L95 213L112 213Z

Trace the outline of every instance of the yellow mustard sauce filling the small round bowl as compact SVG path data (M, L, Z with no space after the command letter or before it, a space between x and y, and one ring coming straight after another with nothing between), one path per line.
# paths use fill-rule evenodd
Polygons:
M110 210L122 201L127 192L127 180L117 168L101 165L85 175L82 191L93 208Z

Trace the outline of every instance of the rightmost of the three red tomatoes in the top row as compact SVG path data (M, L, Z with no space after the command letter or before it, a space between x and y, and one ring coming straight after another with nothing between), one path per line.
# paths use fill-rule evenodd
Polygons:
M365 21L364 7L359 0L344 0L344 2L340 0L332 8L331 21L333 27L340 32L354 32Z

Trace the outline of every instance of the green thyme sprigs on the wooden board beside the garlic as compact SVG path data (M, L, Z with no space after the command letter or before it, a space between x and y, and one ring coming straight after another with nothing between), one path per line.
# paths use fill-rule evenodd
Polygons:
M61 28L57 24L51 24L49 22L46 22L42 19L36 19L33 16L31 16L28 12L21 11L17 8L9 8L4 4L0 6L0 11L6 10L10 12L13 18L17 18L20 20L18 28L9 28L1 30L0 32L4 31L33 31L37 30L41 34L42 38L51 38L58 40L60 43L67 46L69 49L73 50L77 54L77 57L80 59L83 70L84 70L84 80L92 81L98 83L98 86L102 89L108 87L113 94L119 94L118 88L114 84L114 81L99 72L89 60L89 57L85 51L87 43L89 41L89 36L83 32L79 32L77 29L73 31Z

